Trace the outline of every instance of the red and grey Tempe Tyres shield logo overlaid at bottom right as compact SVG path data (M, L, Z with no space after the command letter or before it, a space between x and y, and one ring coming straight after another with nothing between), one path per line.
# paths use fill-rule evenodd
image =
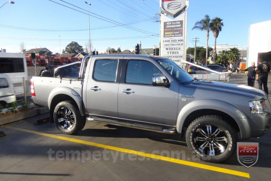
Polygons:
M259 158L259 143L237 142L237 160L249 168L257 163Z

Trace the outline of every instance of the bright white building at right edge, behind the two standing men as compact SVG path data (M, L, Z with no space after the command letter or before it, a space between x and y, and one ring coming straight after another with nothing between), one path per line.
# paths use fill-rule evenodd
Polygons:
M258 59L271 63L271 20L251 24L248 32L247 66Z

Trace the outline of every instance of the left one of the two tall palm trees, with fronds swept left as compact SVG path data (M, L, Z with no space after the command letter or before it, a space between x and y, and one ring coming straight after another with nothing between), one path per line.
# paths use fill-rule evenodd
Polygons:
M195 23L195 26L192 28L192 30L197 29L201 31L206 31L206 65L207 65L207 59L208 59L208 40L209 40L209 32L210 32L210 16L206 14L204 16L205 18L201 21L197 21Z

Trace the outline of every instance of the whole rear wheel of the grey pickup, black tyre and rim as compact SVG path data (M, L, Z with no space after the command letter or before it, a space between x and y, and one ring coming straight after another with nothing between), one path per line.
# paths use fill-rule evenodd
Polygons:
M62 101L55 106L54 121L59 131L74 135L84 128L86 116L81 116L74 102Z

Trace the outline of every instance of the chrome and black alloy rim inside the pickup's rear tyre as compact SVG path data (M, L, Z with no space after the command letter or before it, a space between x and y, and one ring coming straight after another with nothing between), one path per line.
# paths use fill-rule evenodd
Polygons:
M63 129L70 130L74 125L73 112L67 107L61 107L57 111L57 120Z

